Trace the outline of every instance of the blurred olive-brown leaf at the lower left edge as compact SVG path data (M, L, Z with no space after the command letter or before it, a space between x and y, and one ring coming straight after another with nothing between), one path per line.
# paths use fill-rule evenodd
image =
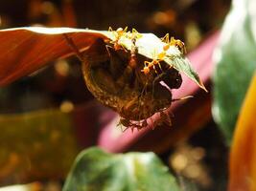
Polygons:
M0 115L0 184L64 177L79 151L73 123L59 110Z

